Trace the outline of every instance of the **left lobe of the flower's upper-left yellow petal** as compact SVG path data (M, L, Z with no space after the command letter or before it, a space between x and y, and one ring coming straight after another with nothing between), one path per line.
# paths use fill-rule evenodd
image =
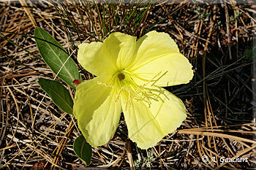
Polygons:
M83 43L78 48L78 62L91 74L99 76L116 72L116 58L102 42Z

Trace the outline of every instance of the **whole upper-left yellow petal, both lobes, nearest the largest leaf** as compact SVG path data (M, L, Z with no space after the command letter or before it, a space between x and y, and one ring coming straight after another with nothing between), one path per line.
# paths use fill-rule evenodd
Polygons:
M103 42L78 45L78 62L91 74L114 74L134 61L135 45L135 36L115 32Z

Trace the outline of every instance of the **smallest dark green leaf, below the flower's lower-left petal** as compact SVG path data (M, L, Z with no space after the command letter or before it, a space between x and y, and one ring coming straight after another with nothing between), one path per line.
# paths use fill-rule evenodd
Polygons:
M86 139L84 139L82 134L78 136L77 139L75 139L73 149L75 151L75 154L78 155L78 158L84 161L86 165L90 164L92 152L91 145L86 142Z

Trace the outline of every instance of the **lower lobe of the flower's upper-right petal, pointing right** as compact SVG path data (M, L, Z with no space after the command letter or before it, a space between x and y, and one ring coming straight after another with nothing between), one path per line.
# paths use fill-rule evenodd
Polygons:
M171 53L157 58L132 73L143 79L133 78L140 85L152 80L149 84L161 87L185 84L193 77L192 65L181 53Z

